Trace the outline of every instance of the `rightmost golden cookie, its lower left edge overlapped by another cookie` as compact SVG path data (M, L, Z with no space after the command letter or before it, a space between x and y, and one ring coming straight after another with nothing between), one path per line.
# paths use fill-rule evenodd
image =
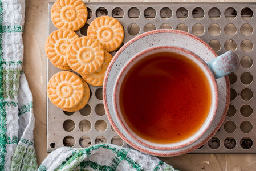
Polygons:
M91 22L87 36L100 41L104 50L115 51L124 40L124 28L121 23L109 16L101 16Z

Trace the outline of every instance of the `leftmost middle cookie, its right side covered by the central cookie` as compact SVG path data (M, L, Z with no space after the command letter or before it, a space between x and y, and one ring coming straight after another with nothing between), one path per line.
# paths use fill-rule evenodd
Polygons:
M54 66L69 67L66 54L70 43L79 38L79 36L71 30L61 28L52 32L46 39L45 51L48 59Z

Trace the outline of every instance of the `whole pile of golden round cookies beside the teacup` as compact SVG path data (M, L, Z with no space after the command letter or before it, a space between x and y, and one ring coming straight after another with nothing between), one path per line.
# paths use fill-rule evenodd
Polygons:
M123 26L109 16L96 18L80 37L78 31L87 21L87 7L82 0L57 0L52 6L52 23L58 30L52 32L45 44L46 55L61 70L47 86L51 102L64 111L82 109L90 97L87 85L102 86L112 55L123 42Z

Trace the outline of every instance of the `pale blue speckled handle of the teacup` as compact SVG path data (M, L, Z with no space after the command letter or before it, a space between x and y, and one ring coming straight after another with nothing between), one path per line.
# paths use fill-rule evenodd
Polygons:
M227 51L224 54L210 60L208 67L212 70L215 79L221 78L239 67L239 59L233 51Z

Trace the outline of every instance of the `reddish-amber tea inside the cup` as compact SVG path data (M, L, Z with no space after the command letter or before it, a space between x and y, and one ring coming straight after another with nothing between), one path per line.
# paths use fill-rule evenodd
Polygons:
M212 93L204 71L175 52L134 64L121 83L119 104L128 127L152 143L177 143L201 128Z

